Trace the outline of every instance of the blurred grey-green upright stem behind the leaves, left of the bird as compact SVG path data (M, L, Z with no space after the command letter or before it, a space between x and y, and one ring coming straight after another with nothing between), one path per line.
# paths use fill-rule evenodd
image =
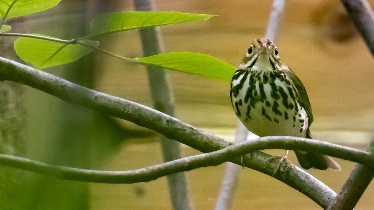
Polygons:
M151 0L134 0L138 11L152 11ZM144 28L140 30L144 56L159 54L163 51L159 28ZM163 68L147 65L148 83L153 99L154 108L165 114L174 116L172 93L168 86L166 72ZM181 158L180 143L161 136L161 147L165 162ZM168 176L171 203L175 210L190 209L185 173Z

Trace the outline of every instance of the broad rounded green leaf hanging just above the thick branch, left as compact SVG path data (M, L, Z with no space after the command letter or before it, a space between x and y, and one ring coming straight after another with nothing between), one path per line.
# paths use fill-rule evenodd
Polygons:
M99 46L98 41L92 40L80 40L78 43L93 47ZM33 64L34 67L39 69L68 64L94 50L81 44L65 44L28 37L19 37L16 39L14 42L14 49L22 60Z

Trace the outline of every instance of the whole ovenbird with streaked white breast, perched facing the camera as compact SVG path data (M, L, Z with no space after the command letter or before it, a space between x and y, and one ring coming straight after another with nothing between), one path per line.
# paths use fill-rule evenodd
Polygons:
M237 117L255 135L312 138L313 115L305 87L272 41L257 39L249 46L232 77L230 97ZM304 169L341 169L326 155L295 154Z

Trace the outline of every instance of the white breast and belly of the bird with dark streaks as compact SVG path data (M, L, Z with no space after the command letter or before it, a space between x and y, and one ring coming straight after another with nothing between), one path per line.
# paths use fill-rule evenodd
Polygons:
M251 71L237 71L241 75L232 80L231 91L237 116L258 136L305 137L308 127L305 109L298 103L294 89L288 88L284 75L275 76L268 67L255 65Z

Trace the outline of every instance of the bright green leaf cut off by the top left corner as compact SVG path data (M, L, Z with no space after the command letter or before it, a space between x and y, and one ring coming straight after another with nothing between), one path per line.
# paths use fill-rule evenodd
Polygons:
M61 0L0 0L0 19L5 21L56 6Z

